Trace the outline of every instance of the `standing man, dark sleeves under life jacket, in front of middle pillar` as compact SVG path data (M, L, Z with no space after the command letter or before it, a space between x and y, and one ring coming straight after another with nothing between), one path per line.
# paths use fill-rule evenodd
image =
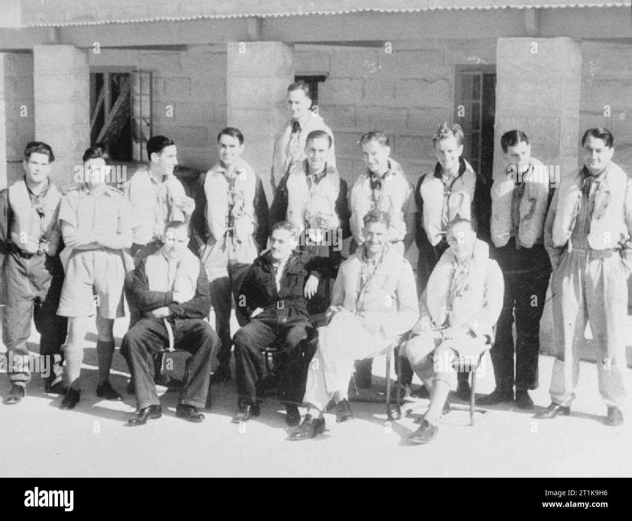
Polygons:
M237 321L243 326L248 316L240 306L238 290L253 260L265 249L269 230L263 183L241 158L243 141L238 128L227 127L219 132L219 162L198 178L191 216L189 247L202 259L209 277L216 331L222 341L212 384L231 379L233 297Z

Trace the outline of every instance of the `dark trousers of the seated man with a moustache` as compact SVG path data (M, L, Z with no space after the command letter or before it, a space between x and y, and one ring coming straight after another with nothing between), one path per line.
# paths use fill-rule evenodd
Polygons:
M316 350L316 331L307 316L289 311L264 311L234 336L238 402L252 405L264 400L265 358L263 350L276 346L283 360L279 401L300 405L305 393L307 368Z

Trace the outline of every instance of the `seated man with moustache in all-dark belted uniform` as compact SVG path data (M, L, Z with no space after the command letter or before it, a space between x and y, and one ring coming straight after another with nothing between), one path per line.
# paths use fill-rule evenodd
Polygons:
M298 405L305 392L307 364L315 350L315 328L306 298L315 295L328 276L327 259L295 251L299 230L288 221L272 226L270 249L255 259L240 288L238 305L250 317L234 336L238 413L234 423L259 415L264 398L265 359L261 349L276 343L287 353L279 383L286 421L301 420Z

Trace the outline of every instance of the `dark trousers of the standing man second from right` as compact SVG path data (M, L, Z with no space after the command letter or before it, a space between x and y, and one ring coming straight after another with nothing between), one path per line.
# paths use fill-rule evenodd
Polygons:
M515 239L511 238L504 247L496 248L494 257L505 281L502 312L490 352L496 388L509 391L515 384L516 388L537 389L540 319L551 272L549 255L540 245L516 249Z

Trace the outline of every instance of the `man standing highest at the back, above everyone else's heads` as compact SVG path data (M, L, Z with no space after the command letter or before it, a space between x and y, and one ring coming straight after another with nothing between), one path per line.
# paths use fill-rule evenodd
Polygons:
M307 136L314 130L324 130L331 136L331 154L327 162L336 166L336 152L334 150L334 133L325 125L322 116L313 113L310 88L305 82L295 82L288 87L288 108L291 119L274 138L274 152L272 155L272 170L270 181L272 190L281 183L295 164L305 159L305 144Z

